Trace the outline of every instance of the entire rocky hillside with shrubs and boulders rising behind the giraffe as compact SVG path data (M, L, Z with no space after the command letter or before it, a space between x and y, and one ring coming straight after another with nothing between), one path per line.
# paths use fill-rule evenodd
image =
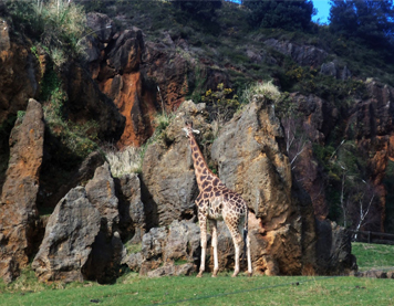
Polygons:
M249 204L255 272L349 273L338 224L394 232L390 49L313 23L256 29L231 2L198 13L169 1L37 3L0 4L6 281L32 261L41 281L108 283L121 265L191 273L185 116L209 168ZM220 241L229 268L225 230Z

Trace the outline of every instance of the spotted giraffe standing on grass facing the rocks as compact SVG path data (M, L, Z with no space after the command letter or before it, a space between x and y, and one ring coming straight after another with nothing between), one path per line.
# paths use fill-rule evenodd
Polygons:
M232 277L239 273L239 255L242 243L241 229L243 228L243 256L248 253L248 274L251 276L251 257L250 257L250 239L248 234L248 205L243 199L235 191L228 189L220 179L209 170L207 162L197 145L194 133L199 134L199 130L193 129L193 123L185 123L183 128L186 131L186 137L189 139L191 148L191 157L196 173L196 180L199 189L199 194L195 200L198 209L198 221L201 232L201 264L197 277L203 276L205 271L205 256L207 251L207 221L212 231L212 249L214 249L214 273L216 277L219 271L218 263L218 236L217 221L224 220L230 231L235 250L235 270Z

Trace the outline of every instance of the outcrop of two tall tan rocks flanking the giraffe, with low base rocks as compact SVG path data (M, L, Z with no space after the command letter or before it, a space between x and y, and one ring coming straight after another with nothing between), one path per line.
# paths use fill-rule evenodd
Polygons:
M251 253L255 273L267 275L314 275L325 273L317 260L319 245L330 250L340 245L342 254L332 256L333 267L349 272L351 261L350 241L332 239L332 230L315 226L315 218L310 197L293 180L289 159L284 149L284 137L273 104L262 96L256 96L241 114L226 124L206 155L208 165L218 167L219 177L231 189L242 194L248 202ZM173 261L166 253L176 230L157 228L174 226L185 219L185 208L193 211L194 197L197 196L190 152L182 131L185 117L194 120L195 128L201 130L201 138L211 139L210 126L204 122L204 104L185 102L176 113L173 123L163 131L160 138L149 145L143 166L143 198L149 213L149 233L143 238L143 251L128 256L131 268L142 270L144 274L176 274ZM201 146L201 144L200 144ZM205 147L201 146L203 151ZM182 178L182 181L177 181ZM177 180L176 180L177 179ZM187 184L186 184L187 182ZM187 188L185 188L187 186ZM179 197L183 196L183 197ZM195 212L189 217L195 217ZM174 222L174 223L172 223ZM329 223L330 224L330 223ZM234 265L232 241L224 223L219 225L219 267ZM187 244L185 241L182 243ZM176 246L172 249L177 250ZM334 252L334 251L332 251ZM183 253L183 252L180 252ZM186 258L189 264L198 262ZM165 266L159 267L160 264Z

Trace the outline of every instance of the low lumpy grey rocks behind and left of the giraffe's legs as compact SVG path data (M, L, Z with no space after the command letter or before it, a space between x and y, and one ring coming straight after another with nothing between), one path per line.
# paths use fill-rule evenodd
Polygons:
M208 245L210 234L208 233ZM207 271L214 270L214 256L208 247ZM191 221L174 221L168 228L153 228L143 238L142 251L128 254L124 264L149 277L189 275L200 262L200 229ZM234 268L234 244L224 222L218 222L219 270ZM182 264L180 264L182 263Z

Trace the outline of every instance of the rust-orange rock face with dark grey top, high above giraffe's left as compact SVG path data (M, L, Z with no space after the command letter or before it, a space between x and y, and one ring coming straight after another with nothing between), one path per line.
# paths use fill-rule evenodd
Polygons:
M89 36L85 42L92 77L125 117L117 145L141 146L153 134L152 120L157 112L156 88L148 88L139 68L142 31L132 28L115 33L113 21L100 13L90 13L87 24L98 30L97 36Z

